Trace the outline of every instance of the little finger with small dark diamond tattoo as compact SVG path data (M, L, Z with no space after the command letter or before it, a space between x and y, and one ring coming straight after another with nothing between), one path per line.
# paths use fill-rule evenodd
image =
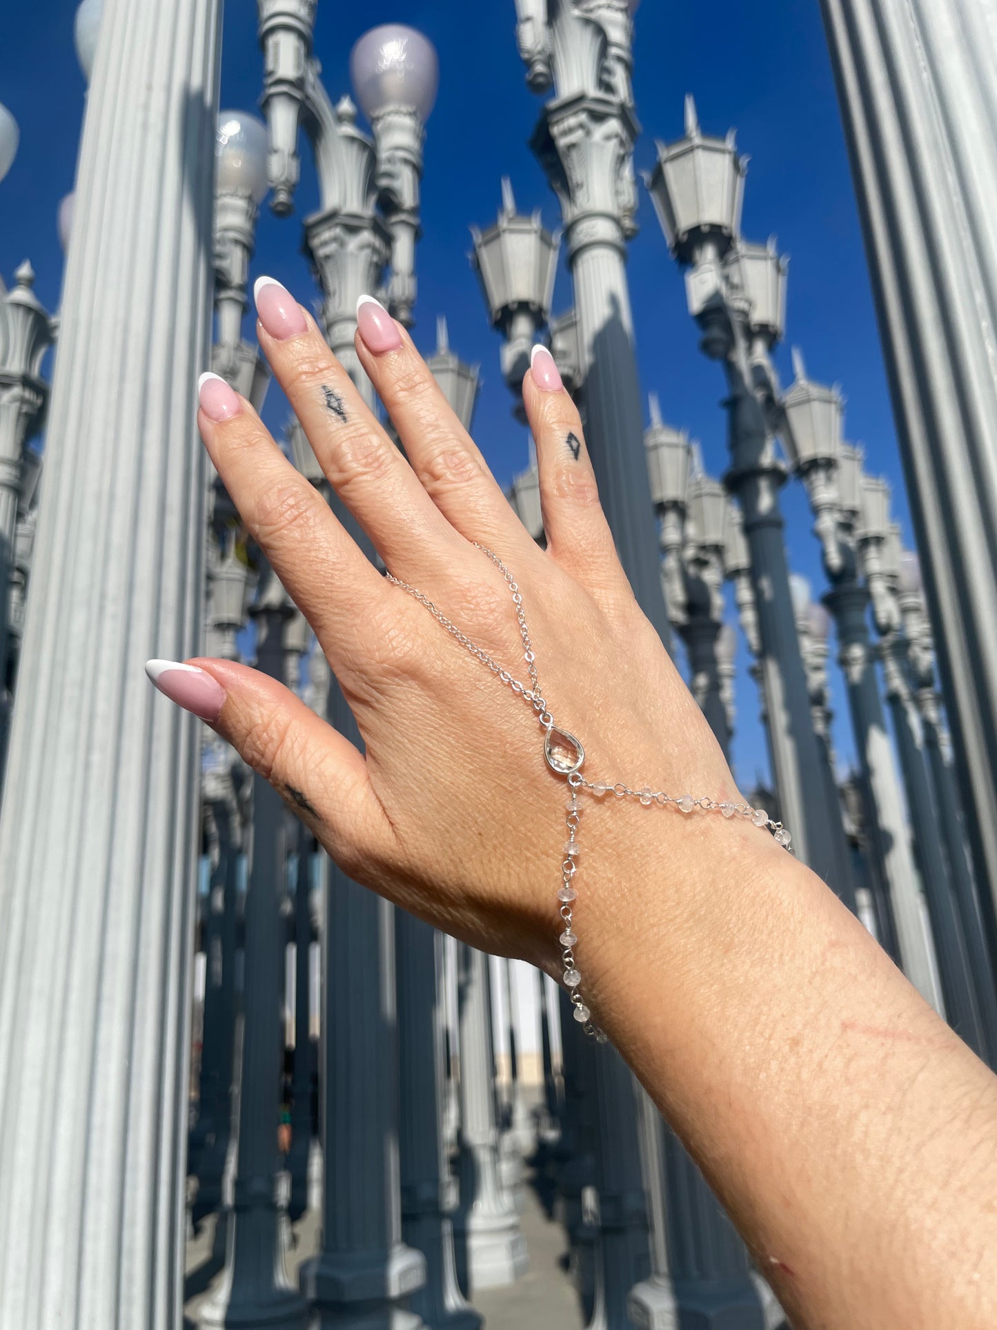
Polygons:
M522 402L537 446L549 552L590 591L622 593L626 577L600 503L581 416L546 347L533 347Z

